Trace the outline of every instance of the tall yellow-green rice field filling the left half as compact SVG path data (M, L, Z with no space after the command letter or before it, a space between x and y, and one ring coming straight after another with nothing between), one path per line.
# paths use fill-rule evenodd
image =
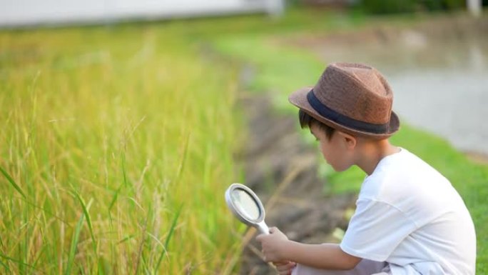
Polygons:
M0 32L0 274L232 274L235 76L178 33Z

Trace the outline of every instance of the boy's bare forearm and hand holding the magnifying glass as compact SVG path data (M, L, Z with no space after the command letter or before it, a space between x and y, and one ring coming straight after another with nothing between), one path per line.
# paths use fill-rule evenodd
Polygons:
M353 269L361 258L345 253L338 244L300 244L273 227L259 235L265 261L294 261L317 269Z

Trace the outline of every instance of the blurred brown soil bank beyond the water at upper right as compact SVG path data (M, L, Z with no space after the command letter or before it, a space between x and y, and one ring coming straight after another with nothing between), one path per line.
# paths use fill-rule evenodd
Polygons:
M439 49L440 54L444 54L442 49L446 46L446 41L482 40L487 31L486 16L474 18L464 14L452 14L452 16L430 17L429 20L419 19L410 24L371 24L349 31L276 37L275 44L306 49L325 61L330 61L331 57L335 58L334 60L351 57L366 61L392 59L392 63L398 66L399 61L412 59L411 53L418 54L417 51L421 50L427 53L426 56L422 56L422 59L427 59L423 62L432 63L429 55L435 56ZM425 50L428 48L434 48L436 51ZM396 50L391 51L391 49ZM356 51L356 56L352 56L353 51ZM407 56L399 56L399 52ZM367 57L371 54L374 56Z

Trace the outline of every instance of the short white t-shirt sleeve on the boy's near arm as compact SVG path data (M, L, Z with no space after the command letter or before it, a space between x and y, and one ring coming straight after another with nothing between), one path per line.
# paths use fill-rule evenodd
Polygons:
M356 203L340 248L372 261L385 261L417 226L402 211L382 201L360 199Z

